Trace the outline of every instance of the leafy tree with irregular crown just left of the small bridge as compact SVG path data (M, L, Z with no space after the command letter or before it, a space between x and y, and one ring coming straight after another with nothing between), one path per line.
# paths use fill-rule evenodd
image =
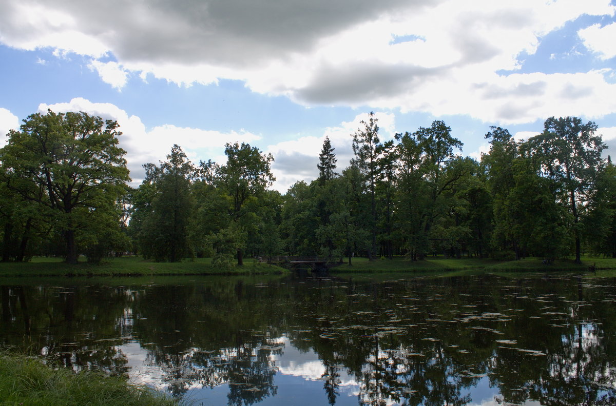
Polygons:
M270 171L270 164L274 161L272 154L262 154L256 147L246 143L227 143L226 165L212 164L214 184L229 199L227 214L231 221L235 221L241 228L251 226L248 217L255 212L254 204L265 189L276 180ZM243 265L243 249L241 244L237 249L237 263Z

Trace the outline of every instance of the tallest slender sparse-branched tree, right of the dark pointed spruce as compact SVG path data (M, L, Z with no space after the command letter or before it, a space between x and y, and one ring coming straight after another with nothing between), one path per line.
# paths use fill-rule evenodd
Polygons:
M375 183L378 177L379 161L381 154L379 127L376 125L378 119L375 113L370 111L368 122L361 121L363 129L358 129L353 134L353 153L355 158L353 163L362 173L370 194L370 231L371 249L368 250L368 258L372 261L376 255L376 196Z

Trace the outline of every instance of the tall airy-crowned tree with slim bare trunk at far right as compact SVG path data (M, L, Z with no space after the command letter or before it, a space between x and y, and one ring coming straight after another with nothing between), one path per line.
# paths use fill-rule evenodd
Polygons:
M549 117L543 133L530 138L529 146L541 162L541 173L559 185L559 201L573 217L575 263L580 259L582 224L588 215L587 203L601 166L601 151L607 148L601 136L594 135L597 125L582 124L578 117Z

